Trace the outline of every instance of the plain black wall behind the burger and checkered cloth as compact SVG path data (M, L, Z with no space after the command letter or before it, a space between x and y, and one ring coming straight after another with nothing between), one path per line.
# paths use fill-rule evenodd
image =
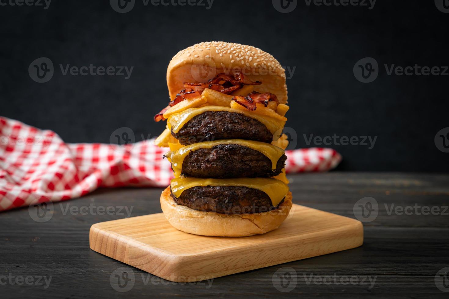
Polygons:
M206 4L207 6L207 4ZM449 13L434 1L376 1L367 6L316 6L299 1L280 13L270 0L215 0L206 6L144 6L128 13L109 1L57 1L48 9L0 6L0 114L56 131L67 142L109 143L129 127L136 141L158 135L152 117L168 101L166 69L179 50L210 40L261 48L283 66L287 81L286 126L304 135L377 136L374 148L332 145L343 155L340 170L446 171L449 154L434 143L449 126L448 76L388 76L383 64L449 65ZM55 74L34 82L28 66L53 61ZM379 77L357 81L354 64L379 63ZM134 66L124 76L63 76L70 66Z

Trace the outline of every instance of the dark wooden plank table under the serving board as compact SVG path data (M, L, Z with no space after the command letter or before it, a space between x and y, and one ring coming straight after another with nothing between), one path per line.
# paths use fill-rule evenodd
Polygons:
M359 199L374 198L379 209L374 221L364 224L364 245L212 282L169 282L90 250L88 240L93 223L127 217L120 206L132 208L131 216L161 212L161 190L101 189L54 204L46 222L34 221L27 208L0 213L0 297L448 298L449 277L441 272L449 267L448 174L331 172L290 178L296 204L347 217L355 217ZM102 210L109 206L109 212ZM430 215L419 215L427 213L424 206ZM128 277L134 274L119 288L127 292L110 283L122 267Z

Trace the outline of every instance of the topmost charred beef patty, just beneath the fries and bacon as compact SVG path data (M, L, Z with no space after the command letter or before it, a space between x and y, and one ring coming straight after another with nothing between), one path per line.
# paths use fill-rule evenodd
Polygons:
M217 139L247 139L271 143L273 134L260 121L242 113L206 111L188 121L173 137L181 144Z

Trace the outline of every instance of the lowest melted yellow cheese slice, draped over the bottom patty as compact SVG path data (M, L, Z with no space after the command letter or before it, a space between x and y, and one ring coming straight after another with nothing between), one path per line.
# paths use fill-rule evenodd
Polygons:
M170 183L172 193L179 197L183 191L204 186L238 186L265 192L273 207L281 202L289 191L286 183L274 178L174 178Z

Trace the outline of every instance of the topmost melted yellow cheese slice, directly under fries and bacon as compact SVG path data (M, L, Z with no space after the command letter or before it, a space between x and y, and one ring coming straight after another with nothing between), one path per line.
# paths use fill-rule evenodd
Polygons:
M173 131L173 133L178 133L179 130L193 117L205 113L207 111L228 111L243 114L247 117L254 118L264 124L267 129L273 134L273 140L277 140L282 134L282 128L285 126L285 121L275 119L273 117L267 117L264 115L258 115L251 112L246 112L240 109L233 109L229 107L222 106L204 106L200 108L189 108L181 113L172 114L168 117L167 125L168 128Z

